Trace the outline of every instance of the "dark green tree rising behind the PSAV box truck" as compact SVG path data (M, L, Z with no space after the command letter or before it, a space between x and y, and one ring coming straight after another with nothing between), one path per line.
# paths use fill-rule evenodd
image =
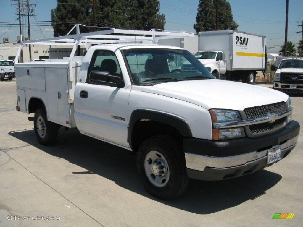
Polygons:
M200 31L216 30L217 0L200 0L194 29ZM238 24L233 20L231 6L226 0L218 0L219 30L237 30Z

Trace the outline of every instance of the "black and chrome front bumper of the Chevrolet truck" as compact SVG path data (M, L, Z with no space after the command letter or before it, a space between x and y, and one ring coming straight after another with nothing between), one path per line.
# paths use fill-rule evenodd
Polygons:
M225 141L185 139L188 176L200 180L222 180L264 169L269 166L268 150L280 146L283 159L297 144L299 130L299 123L291 121L285 129L264 137Z

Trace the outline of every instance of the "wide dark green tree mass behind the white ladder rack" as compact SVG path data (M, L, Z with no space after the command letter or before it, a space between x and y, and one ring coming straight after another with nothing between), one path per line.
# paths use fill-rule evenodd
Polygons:
M164 29L165 16L159 13L157 0L95 0L95 25L106 28L150 30ZM92 26L92 0L57 0L52 9L54 36L66 35L79 23ZM81 27L81 32L93 31L92 27Z

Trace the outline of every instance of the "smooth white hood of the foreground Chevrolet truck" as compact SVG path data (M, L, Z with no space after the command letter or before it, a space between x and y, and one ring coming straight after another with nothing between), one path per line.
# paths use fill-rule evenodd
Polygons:
M141 91L183 100L207 110L244 110L288 99L288 95L271 88L216 79L168 82L143 86Z

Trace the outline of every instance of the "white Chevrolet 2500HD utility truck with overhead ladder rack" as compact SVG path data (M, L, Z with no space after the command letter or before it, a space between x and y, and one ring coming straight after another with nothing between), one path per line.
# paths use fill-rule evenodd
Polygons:
M159 32L135 35L140 32L161 37ZM131 150L143 185L160 199L180 196L188 178L223 180L253 173L296 146L300 126L292 120L288 95L216 80L182 48L137 43L88 47L89 41L109 42L97 40L96 34L68 36L76 41L62 62L15 64L16 108L35 113L39 143L55 143L64 126ZM130 36L124 38L121 42ZM118 42L117 37L110 42ZM80 44L87 53L74 57ZM191 71L170 69L172 56Z

